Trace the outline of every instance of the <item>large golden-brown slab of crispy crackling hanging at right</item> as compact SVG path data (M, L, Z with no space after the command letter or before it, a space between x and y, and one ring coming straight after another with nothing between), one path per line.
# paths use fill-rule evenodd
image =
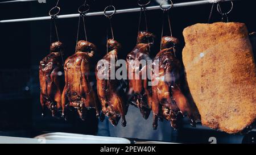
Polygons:
M256 118L255 60L245 24L195 24L183 35L185 72L202 124L242 131Z

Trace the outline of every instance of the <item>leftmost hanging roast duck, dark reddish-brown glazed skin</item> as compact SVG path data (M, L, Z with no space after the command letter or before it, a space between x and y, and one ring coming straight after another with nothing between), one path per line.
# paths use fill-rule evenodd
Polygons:
M52 43L51 53L40 61L40 102L43 116L47 108L51 110L52 116L59 117L61 115L61 94L65 85L61 50L63 50L62 43Z

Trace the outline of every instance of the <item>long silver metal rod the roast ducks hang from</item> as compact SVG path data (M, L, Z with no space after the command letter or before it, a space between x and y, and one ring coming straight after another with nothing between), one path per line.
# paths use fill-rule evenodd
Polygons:
M228 1L238 1L238 0L222 0L222 2L228 2ZM195 5L205 5L205 4L210 4L209 0L175 3L172 7L195 6ZM169 7L169 6L170 5L164 5L163 7ZM146 7L146 10L158 10L158 9L160 9L160 5L159 6ZM139 12L139 11L141 11L141 8L123 9L123 10L117 10L115 14L128 13L128 12ZM111 14L111 13L113 13L113 11L107 11L106 13ZM76 17L79 17L79 15L80 14L59 15L59 16L57 16L57 18L58 19L62 19L62 18L76 18ZM97 15L104 15L104 11L101 11L101 12L90 12L90 13L86 14L86 16L97 16ZM0 20L0 23L28 22L28 21L49 20L49 19L51 19L51 16Z

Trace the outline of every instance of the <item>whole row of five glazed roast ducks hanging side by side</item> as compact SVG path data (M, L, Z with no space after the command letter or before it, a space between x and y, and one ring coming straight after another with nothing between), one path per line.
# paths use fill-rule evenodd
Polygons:
M150 47L153 44L154 35L150 32L139 32L138 43L126 58L127 70L129 60L150 59ZM188 115L192 123L193 116L191 105L180 89L181 63L175 57L175 44L179 41L175 37L165 36L162 38L162 49L156 55L155 60L159 61L159 72L151 74L151 80L158 79L158 84L149 86L149 78L128 79L128 85L124 85L118 79L100 79L97 73L102 69L96 65L95 73L97 79L97 93L92 86L90 60L94 56L96 46L88 41L81 40L77 43L77 51L65 60L64 68L61 63L61 50L63 44L55 42L51 44L51 53L40 61L40 102L44 111L49 109L53 116L62 114L66 119L67 112L77 111L82 120L86 119L86 113L95 109L96 116L104 120L105 116L113 125L117 125L122 118L122 126L126 126L125 115L129 104L139 108L144 119L147 119L152 110L154 120L153 128L158 126L158 120L170 120L171 125L177 128L177 121ZM110 62L111 57L118 60L117 53L121 45L113 40L108 40L109 52L102 58ZM110 65L109 65L110 68ZM139 70L139 76L144 69ZM152 65L154 68L154 63ZM61 73L65 75L61 76ZM117 70L118 67L115 67ZM135 70L133 70L135 72ZM134 73L138 74L138 72ZM109 74L110 76L110 74Z

